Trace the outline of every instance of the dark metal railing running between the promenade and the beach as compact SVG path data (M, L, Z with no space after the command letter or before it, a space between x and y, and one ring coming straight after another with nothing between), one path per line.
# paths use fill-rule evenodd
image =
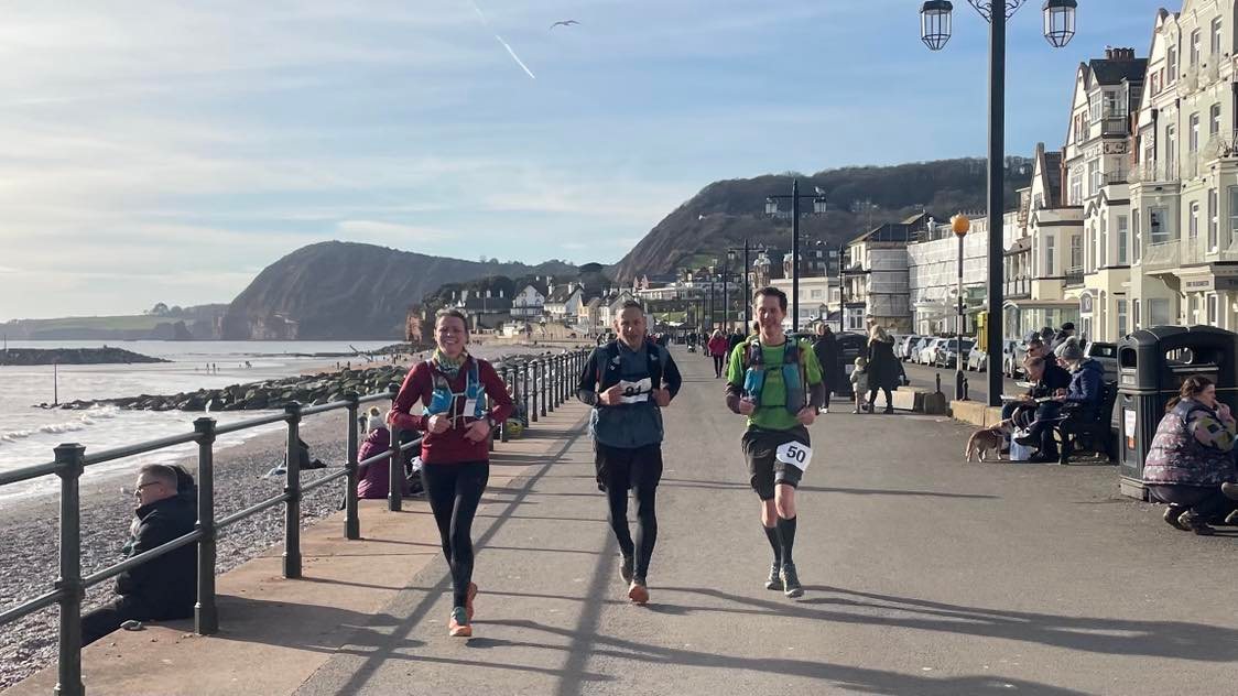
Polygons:
M587 357L588 352L586 350L568 350L557 355L522 360L516 364L503 363L498 367L498 372L509 393L513 394L516 405L526 414L529 421L537 422L539 417L545 417L547 412L553 412L556 407L574 396L576 379L581 374ZM359 445L357 416L360 405L370 401L391 400L395 398L395 385L391 385L391 389L386 393L365 396L350 391L340 401L308 407L302 407L301 404L292 402L285 406L284 414L272 414L227 425L218 425L209 416L199 417L193 421L193 432L113 450L103 450L89 455L82 445L63 443L53 450L54 459L52 462L0 472L0 487L53 474L61 479L59 577L56 578L50 592L26 599L16 607L0 612L0 625L12 623L52 604L59 604L58 684L56 685L54 694L58 696L82 696L85 692L82 682L82 601L85 597L85 589L142 563L154 561L160 556L171 554L177 549L197 544L198 598L194 604L194 632L201 635L209 635L218 632L215 541L220 530L262 510L284 504L284 577L298 578L302 570L301 499L306 493L344 479L344 536L349 540L360 539L360 519L358 516L357 502L358 472L363 467L379 466L386 461L390 467L387 476L390 485L387 492L387 509L400 510L404 498L401 482L405 481L404 452L418 447L421 438L417 437L401 443L400 432L392 431L391 447L387 451L363 461L357 459ZM306 416L335 410L348 411L348 461L343 469L302 484L301 446L298 442L301 421ZM215 437L281 421L287 424L287 471L284 492L249 508L215 519ZM506 422L499 425L498 432L491 431L491 450L494 448L495 438L499 438L501 442L508 441ZM83 577L79 482L85 468L188 442L198 445L198 520L193 531Z

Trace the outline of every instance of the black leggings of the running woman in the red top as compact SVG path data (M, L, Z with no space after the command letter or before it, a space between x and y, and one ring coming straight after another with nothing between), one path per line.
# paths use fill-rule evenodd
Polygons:
M452 606L463 607L473 580L473 515L490 478L490 463L423 464L421 478L452 568Z

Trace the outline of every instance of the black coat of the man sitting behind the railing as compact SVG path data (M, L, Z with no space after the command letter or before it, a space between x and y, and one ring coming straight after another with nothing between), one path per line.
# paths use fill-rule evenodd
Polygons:
M150 551L193 531L197 507L182 497L165 498L137 508L137 529L125 545L125 557ZM116 594L141 602L152 618L193 614L197 591L198 545L188 544L116 576Z

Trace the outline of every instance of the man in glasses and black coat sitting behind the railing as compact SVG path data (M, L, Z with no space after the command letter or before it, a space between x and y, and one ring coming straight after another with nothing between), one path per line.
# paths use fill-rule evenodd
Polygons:
M139 469L134 489L137 509L124 546L126 559L193 531L197 509L193 500L178 494L183 476L162 464ZM197 544L181 546L116 576L120 597L82 617L82 644L94 643L128 620L192 617L197 598Z

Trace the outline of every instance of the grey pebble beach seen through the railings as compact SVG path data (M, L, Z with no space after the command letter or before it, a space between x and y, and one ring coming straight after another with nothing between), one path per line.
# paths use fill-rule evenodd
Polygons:
M534 349L536 350L536 349ZM477 347L474 354L498 360L504 355L527 355L529 347ZM552 350L560 352L557 349ZM338 471L347 459L347 431L343 411L314 416L302 424L301 436L313 457L327 469L302 473L310 482ZM277 495L282 477L262 478L271 467L282 463L284 432L262 435L224 451L215 452L215 516L248 508ZM197 472L197 459L180 462ZM83 484L82 488L82 572L88 575L123 559L121 545L132 520L134 473L118 474ZM335 511L343 482L311 492L301 502L301 524L308 526ZM52 589L58 575L57 495L43 495L0 510L0 608ZM284 507L276 505L229 526L218 541L215 571L227 572L262 554L284 539ZM111 581L87 589L83 612L114 597ZM54 664L58 612L54 607L0 627L0 690L21 681L40 669Z

